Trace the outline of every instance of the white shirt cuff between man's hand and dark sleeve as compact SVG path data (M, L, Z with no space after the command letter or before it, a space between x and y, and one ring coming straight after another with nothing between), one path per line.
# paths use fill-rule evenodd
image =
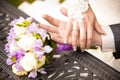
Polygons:
M115 52L115 41L111 28L109 26L102 26L102 29L106 32L105 35L102 35L102 51Z

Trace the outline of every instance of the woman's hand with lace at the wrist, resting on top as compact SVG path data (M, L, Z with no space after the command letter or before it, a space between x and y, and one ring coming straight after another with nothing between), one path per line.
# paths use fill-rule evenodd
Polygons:
M67 9L62 8L61 12L67 16ZM81 50L84 51L85 48L89 48L92 45L94 30L100 34L105 34L105 32L99 26L96 16L90 6L88 10L83 13L83 16L84 18L81 25L79 25L79 23L71 17L68 18L68 23L66 25L64 43L67 43L69 36L72 34L71 40L74 50L77 48L78 38L80 40L79 46Z

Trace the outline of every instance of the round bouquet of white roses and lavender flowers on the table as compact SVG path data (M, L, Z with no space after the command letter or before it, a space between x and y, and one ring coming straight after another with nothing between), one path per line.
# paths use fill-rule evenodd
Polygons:
M5 51L7 64L18 76L37 77L37 73L46 74L43 66L49 63L56 51L56 43L50 39L47 31L38 28L33 18L20 17L10 23Z

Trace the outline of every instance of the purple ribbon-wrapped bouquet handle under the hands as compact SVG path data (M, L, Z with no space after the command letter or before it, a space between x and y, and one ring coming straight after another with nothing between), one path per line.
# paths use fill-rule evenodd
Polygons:
M57 53L60 53L61 51L64 50L73 50L73 48L71 45L68 44L57 44L57 49L56 49Z

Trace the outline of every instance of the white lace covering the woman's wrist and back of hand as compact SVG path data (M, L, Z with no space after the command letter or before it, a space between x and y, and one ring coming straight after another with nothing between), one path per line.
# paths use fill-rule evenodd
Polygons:
M82 23L83 12L87 11L89 0L68 0L68 17L73 17L79 24Z

